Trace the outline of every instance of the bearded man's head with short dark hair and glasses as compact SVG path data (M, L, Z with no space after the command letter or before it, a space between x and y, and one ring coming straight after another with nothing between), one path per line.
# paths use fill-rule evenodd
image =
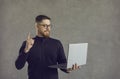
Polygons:
M38 15L35 18L35 27L38 36L49 37L51 30L51 18L46 15Z

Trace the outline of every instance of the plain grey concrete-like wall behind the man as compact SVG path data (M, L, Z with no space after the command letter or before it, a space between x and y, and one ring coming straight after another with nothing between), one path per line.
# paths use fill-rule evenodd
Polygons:
M0 0L0 79L27 79L27 64L15 60L34 18L52 18L51 36L69 43L88 42L87 64L60 79L120 79L120 0Z

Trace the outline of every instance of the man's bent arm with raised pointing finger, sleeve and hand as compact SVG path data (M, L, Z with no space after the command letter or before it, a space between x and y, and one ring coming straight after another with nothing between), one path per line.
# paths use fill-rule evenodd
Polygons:
M34 40L30 37L30 33L28 34L27 40L23 42L17 60L15 61L15 66L17 69L22 69L27 60L30 49L34 44Z

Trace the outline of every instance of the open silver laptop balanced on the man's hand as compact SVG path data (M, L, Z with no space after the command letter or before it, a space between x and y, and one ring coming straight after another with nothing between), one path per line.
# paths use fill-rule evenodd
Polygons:
M50 68L67 69L73 64L85 65L87 62L88 43L69 44L67 63L51 65Z

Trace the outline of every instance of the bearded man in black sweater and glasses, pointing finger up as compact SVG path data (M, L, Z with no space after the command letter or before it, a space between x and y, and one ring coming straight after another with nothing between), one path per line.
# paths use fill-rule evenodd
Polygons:
M48 66L67 63L61 42L50 37L51 18L46 15L38 15L35 20L37 34L34 38L28 34L23 42L19 56L15 62L17 69L22 69L28 62L29 79L58 79L57 68ZM69 73L79 69L76 64L70 69L61 69Z

